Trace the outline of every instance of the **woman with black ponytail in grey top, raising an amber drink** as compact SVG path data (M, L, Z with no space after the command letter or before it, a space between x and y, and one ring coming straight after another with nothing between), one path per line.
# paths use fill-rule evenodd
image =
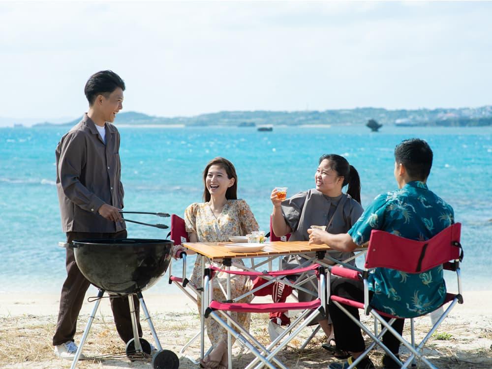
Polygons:
M326 226L326 230L330 233L346 233L364 212L360 204L359 173L343 156L336 154L321 156L314 174L314 181L315 188L300 192L285 200L277 198L277 190L272 191L270 198L274 205L272 227L277 237L291 233L289 241L308 241L307 229L311 226ZM342 188L347 185L346 193L343 193ZM338 260L346 260L353 256L353 253L330 253L330 256ZM284 269L293 269L306 260L300 256L286 256L282 260L282 265ZM328 260L327 262L331 263ZM351 260L349 263L355 264L355 261ZM306 283L303 286L317 296L314 284ZM298 293L299 301L311 301L315 298L304 291L298 291ZM278 331L278 326L275 325L280 321L286 321L283 316L277 319L275 315L279 314L283 313L272 314L273 319L271 319L269 328ZM333 352L337 357L345 356L344 353L335 350L332 326L328 316L319 315L318 323L327 337L327 342L322 345L323 348Z

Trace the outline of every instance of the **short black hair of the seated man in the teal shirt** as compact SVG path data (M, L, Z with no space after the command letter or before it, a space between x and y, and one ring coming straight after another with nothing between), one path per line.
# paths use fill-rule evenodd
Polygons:
M395 147L395 161L403 164L411 179L425 181L431 173L432 150L421 139L409 139Z

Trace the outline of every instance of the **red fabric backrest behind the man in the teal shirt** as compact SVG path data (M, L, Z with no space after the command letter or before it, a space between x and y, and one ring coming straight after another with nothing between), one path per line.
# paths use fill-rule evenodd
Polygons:
M372 230L366 268L390 268L420 273L461 256L461 223L453 224L427 241L403 238Z

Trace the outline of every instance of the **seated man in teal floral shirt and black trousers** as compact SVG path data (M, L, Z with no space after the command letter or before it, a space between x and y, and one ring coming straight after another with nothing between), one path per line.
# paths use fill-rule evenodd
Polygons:
M432 166L432 150L428 143L411 139L395 148L395 179L399 190L381 194L374 199L359 220L342 234L330 234L314 229L310 232L310 243L329 244L339 251L351 251L369 241L372 229L380 229L401 237L427 240L454 223L453 208L431 192L426 181ZM425 273L403 273L394 269L376 268L369 276L370 305L380 311L402 316L422 315L438 308L444 301L446 285L442 267ZM363 283L340 278L332 284L332 294L363 301ZM353 323L335 304L330 304L337 349L348 351L352 356L343 364L332 364L330 368L347 368L365 350L360 328ZM355 317L359 312L349 308ZM393 323L401 334L403 319ZM387 333L383 342L398 356L400 341ZM383 357L385 368L399 368L389 356ZM357 368L374 368L369 357Z

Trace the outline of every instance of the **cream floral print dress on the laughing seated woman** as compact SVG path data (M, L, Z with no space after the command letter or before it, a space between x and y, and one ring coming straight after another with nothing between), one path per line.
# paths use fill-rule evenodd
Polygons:
M192 203L184 211L184 224L186 232L196 233L198 242L227 242L228 236L245 236L253 230L258 230L258 223L249 205L243 199L227 200L222 213L218 218L215 217L209 202ZM233 262L242 264L241 259L235 259ZM217 266L217 265L216 265ZM231 267L231 269L235 269ZM198 287L202 286L202 258L197 256L193 272L191 273L190 282ZM219 284L224 291L227 291L226 274L218 273L214 277L213 298L216 301L224 301L226 297L222 292ZM231 278L231 297L235 298L250 291L252 282L247 276L235 276ZM240 300L242 303L248 303L253 296L247 296ZM201 309L201 299L198 298L198 311ZM231 312L246 330L249 330L250 314L246 312ZM218 342L227 340L227 331L223 329L214 319L205 319L207 326L207 335L213 345ZM234 338L233 338L234 342Z

